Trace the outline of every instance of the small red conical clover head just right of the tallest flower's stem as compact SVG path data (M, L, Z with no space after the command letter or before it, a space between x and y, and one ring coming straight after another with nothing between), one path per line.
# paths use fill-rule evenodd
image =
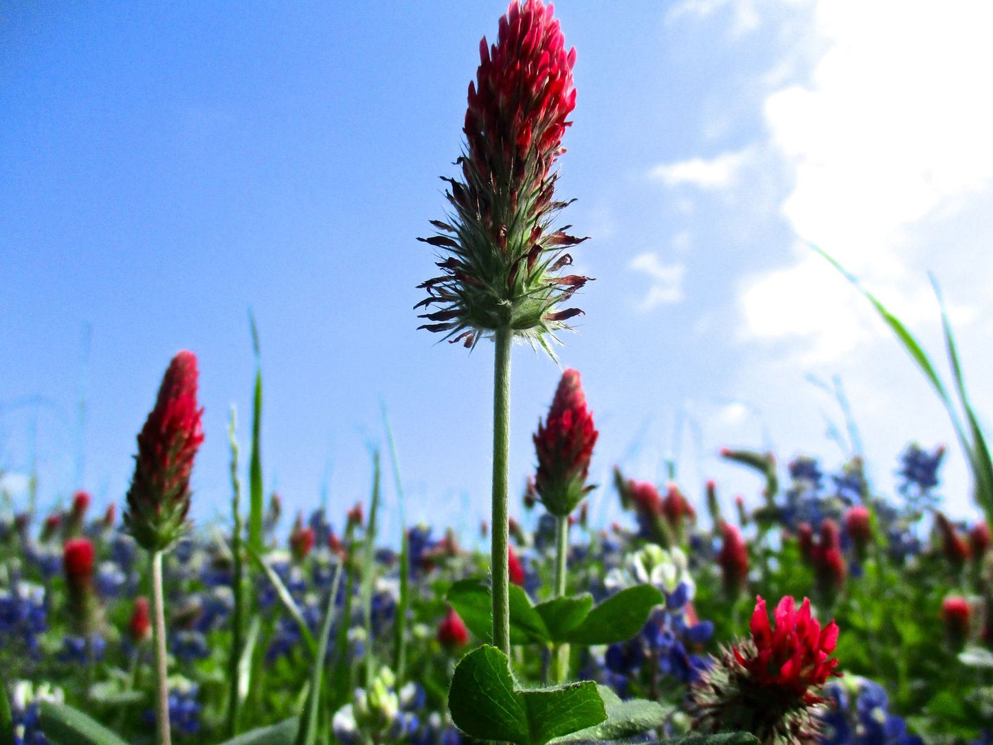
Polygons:
M534 478L541 503L556 517L569 515L593 489L586 485L590 458L597 442L593 412L586 407L579 373L562 373L545 423L533 435L538 456Z

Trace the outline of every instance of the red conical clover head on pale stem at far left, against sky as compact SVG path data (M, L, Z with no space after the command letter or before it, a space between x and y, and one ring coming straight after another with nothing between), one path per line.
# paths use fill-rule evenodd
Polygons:
M181 352L162 378L155 408L138 434L134 478L124 525L149 551L168 548L183 534L190 512L190 474L204 441L197 405L197 357Z

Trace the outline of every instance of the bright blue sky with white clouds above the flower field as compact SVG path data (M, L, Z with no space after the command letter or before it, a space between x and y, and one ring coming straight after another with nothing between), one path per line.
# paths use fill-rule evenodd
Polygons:
M898 10L899 9L899 10ZM180 349L201 361L201 522L226 515L226 420L247 444L252 308L268 488L341 516L393 423L413 520L488 510L492 349L417 332L416 237L442 217L487 2L132 3L0 11L0 468L35 443L41 502L126 491L134 435ZM993 59L981 2L597 2L556 7L578 89L560 193L597 278L563 337L601 430L594 474L754 498L722 445L836 467L839 375L874 483L918 439L948 443L944 493L971 514L945 415L838 255L940 355L933 270L981 414L993 396ZM88 330L88 331L87 331ZM88 340L88 341L87 341ZM943 362L943 358L942 358ZM511 483L559 369L513 356ZM85 425L78 424L80 391ZM676 437L677 422L684 422ZM243 448L244 450L244 448ZM81 478L79 477L79 466ZM80 483L81 482L81 483ZM392 493L390 490L390 499ZM618 514L601 490L594 515Z

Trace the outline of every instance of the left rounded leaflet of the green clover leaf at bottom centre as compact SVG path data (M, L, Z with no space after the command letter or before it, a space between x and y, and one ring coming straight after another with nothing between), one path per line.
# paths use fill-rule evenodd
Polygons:
M470 737L530 744L527 709L496 647L480 647L462 658L452 675L448 707L452 721Z

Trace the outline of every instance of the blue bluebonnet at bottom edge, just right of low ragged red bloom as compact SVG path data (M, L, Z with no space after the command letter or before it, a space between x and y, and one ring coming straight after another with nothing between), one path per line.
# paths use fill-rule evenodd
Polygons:
M874 680L849 675L824 688L820 715L823 745L921 745L902 717L888 711L886 690Z

